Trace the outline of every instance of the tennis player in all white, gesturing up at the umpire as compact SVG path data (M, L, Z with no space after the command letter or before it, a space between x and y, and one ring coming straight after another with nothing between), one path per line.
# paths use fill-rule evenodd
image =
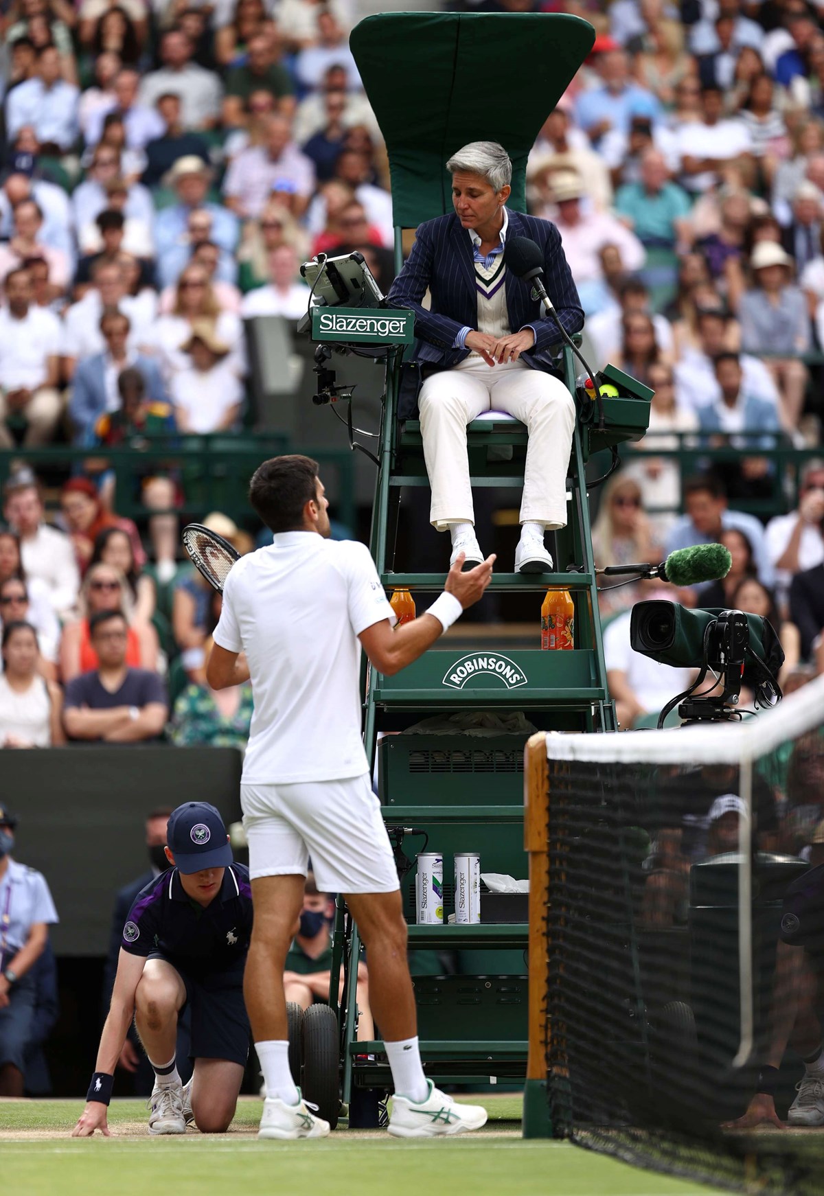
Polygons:
M478 600L495 557L462 573L462 554L429 610L393 630L368 549L328 538L316 462L264 462L249 499L274 541L232 566L207 677L215 689L251 678L255 695L240 801L255 910L244 997L265 1084L258 1136L329 1133L289 1073L282 984L310 855L318 889L346 896L366 945L395 1085L390 1134L478 1129L486 1110L454 1104L421 1067L398 878L361 739L359 671L361 645L382 673L416 660Z

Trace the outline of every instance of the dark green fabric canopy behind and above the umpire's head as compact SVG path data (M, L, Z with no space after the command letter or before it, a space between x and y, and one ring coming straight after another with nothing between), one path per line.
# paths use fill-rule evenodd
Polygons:
M592 49L580 17L396 12L367 17L349 44L386 141L395 224L452 210L446 160L500 141L513 165L508 206L525 210L526 158Z

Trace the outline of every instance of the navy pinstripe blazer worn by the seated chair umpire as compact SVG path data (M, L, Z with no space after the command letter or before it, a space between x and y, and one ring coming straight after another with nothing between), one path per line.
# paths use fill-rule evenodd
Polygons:
M584 328L584 311L578 298L561 234L549 220L509 212L507 237L531 237L544 255L544 286L569 335ZM427 288L432 309L421 306ZM450 370L469 356L469 349L453 349L462 328L477 327L477 292L472 243L454 213L435 216L419 225L413 251L391 286L389 301L395 307L415 312L416 361ZM509 328L518 331L525 324L537 329L537 341L523 360L533 370L551 370L549 352L560 340L555 321L544 317L542 304L532 298L532 283L506 271L506 306Z

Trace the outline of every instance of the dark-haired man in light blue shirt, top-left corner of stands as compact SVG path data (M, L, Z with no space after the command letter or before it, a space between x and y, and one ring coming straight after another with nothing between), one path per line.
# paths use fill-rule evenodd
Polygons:
M31 124L43 153L69 153L78 136L80 92L62 77L60 51L48 44L37 51L35 75L16 87L6 104L6 134L14 138Z

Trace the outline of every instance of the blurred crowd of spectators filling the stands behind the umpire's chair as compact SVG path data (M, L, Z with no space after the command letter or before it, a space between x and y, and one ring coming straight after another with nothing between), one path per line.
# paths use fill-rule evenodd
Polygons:
M710 597L769 608L788 667L824 669L820 10L442 7L597 29L530 154L527 202L561 231L598 365L654 391L649 434L600 496L598 563L721 538L736 586ZM179 559L184 483L147 462L134 523L105 450L242 431L244 322L303 315L307 256L358 249L389 289L387 160L348 47L360 16L354 0L12 0L0 16L0 452L93 453L48 486L14 466L5 488L0 743L243 743L250 695L203 676L218 614ZM779 444L796 464L776 464ZM701 457L724 445L733 458ZM679 447L701 476L682 476ZM614 692L636 714L653 698L621 667L623 616L646 596L603 594Z

